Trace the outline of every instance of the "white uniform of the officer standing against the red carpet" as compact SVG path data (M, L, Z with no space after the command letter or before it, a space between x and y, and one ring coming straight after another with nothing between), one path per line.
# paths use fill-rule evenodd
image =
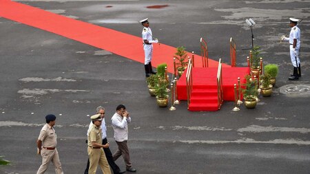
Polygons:
M147 65L152 61L153 45L152 45L152 43L150 43L150 44L144 43L144 40L153 41L152 35L153 34L152 34L151 28L143 28L142 40L143 40L143 50L144 50L144 54L145 54L144 65Z

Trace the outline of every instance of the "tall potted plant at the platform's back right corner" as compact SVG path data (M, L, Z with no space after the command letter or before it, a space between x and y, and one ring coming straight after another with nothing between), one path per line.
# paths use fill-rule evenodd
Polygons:
M258 77L260 74L260 49L259 46L254 46L250 54L250 68L252 76Z

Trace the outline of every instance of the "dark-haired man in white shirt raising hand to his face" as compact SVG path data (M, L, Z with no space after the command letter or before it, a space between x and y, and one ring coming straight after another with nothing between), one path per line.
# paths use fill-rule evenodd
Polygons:
M118 149L113 154L114 161L123 155L126 170L130 172L136 172L136 169L132 167L132 162L130 162L130 152L127 146L128 140L128 127L127 124L131 122L128 111L124 105L118 105L116 107L116 113L111 118L112 127L114 129L114 140L118 145Z

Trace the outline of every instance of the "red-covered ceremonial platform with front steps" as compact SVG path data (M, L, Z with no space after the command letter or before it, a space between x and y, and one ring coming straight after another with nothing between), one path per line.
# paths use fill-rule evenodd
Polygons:
M234 101L234 84L245 83L245 75L249 74L249 67L223 67L223 100ZM192 68L192 94L189 111L218 111L217 67ZM180 77L176 85L178 100L187 100L186 72Z

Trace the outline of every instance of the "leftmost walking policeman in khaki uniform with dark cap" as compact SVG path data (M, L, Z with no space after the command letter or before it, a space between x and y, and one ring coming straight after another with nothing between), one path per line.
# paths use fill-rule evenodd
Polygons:
M63 168L61 168L59 154L56 149L57 136L54 130L56 116L49 114L45 116L45 120L46 124L41 129L37 140L38 154L41 154L42 156L42 164L37 171L37 174L45 173L48 169L48 164L50 164L51 161L54 164L55 172L57 174L63 174Z

